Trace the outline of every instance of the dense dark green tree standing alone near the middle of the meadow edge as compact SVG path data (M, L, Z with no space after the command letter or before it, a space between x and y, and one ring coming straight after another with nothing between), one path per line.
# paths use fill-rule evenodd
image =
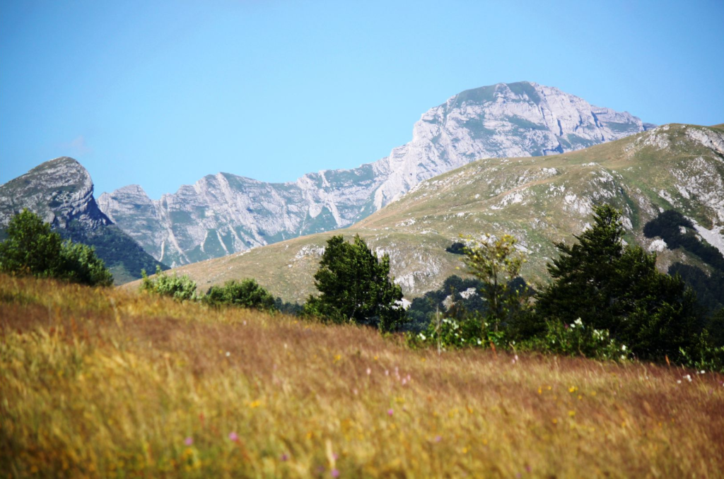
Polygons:
M405 322L397 305L402 289L389 277L390 257L380 260L358 235L353 243L334 236L327 241L314 285L320 294L309 297L304 314L335 323L350 322L393 331Z

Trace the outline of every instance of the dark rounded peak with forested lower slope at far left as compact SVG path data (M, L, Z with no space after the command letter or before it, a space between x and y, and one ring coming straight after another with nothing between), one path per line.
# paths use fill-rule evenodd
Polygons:
M116 284L140 278L142 268L167 269L98 208L90 174L73 158L46 161L1 185L0 231L23 208L37 213L65 239L95 247Z

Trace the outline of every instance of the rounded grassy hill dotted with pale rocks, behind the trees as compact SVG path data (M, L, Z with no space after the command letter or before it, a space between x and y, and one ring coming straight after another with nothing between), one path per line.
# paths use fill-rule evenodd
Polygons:
M703 255L669 249L644 228L666 211L689 219L696 242L724 253L724 128L670 124L622 140L557 156L487 158L421 182L400 200L348 229L258 247L177 268L201 289L251 277L274 295L303 301L334 234L359 234L376 253L390 255L405 296L437 289L460 274L460 255L446 251L459 234L513 234L528 263L526 281L547 281L555 242L573 242L592 218L592 206L623 210L625 239L659 254L663 271L676 264L711 268ZM699 253L701 254L701 253ZM708 253L707 253L708 254ZM724 258L722 258L724 260ZM711 261L709 263L712 263Z

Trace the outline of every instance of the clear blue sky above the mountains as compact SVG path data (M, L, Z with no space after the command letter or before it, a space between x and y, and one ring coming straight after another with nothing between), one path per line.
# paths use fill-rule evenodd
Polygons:
M96 196L351 168L468 88L529 80L724 122L724 1L0 0L0 183L73 156Z

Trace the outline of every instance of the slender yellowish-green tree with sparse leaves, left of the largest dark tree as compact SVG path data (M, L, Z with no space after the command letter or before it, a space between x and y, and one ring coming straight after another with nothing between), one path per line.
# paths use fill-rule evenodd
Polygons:
M501 323L509 321L526 305L525 288L514 289L511 282L518 278L525 262L515 250L515 238L504 234L499 239L485 235L481 242L468 239L465 247L465 264L468 273L483 284L483 297L487 300L487 322L498 331Z

